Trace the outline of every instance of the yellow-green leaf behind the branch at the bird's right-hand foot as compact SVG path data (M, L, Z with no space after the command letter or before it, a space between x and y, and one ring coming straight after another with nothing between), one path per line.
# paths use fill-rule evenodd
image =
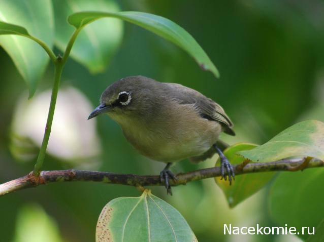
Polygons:
M250 150L255 147L257 146L254 144L239 143L225 149L224 154L230 160L232 165L238 165L243 163L245 158L237 155L237 152ZM219 163L220 159L218 158L216 166L218 166ZM221 180L220 177L215 177L215 181L225 194L229 206L234 208L236 205L241 203L241 201L264 187L275 174L276 173L274 172L265 172L236 176L235 181L232 182L231 186L229 181L225 181L224 179Z

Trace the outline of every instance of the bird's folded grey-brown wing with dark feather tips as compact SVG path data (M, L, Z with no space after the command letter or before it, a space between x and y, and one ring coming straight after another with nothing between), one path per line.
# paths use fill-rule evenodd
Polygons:
M180 104L195 104L202 118L219 122L224 133L235 135L231 119L219 104L191 88L175 83L168 83L167 85L171 87L171 98L177 99Z

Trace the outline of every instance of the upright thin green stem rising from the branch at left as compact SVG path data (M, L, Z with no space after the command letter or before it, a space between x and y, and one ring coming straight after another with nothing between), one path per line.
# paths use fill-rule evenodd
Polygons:
M53 88L52 88L52 96L51 96L51 102L50 102L49 110L48 110L48 116L47 116L44 137L43 137L40 152L38 154L37 161L36 161L36 164L34 167L34 175L36 175L36 176L39 176L40 170L42 169L42 166L44 163L48 140L49 140L49 136L51 134L51 128L52 128L52 123L53 123L53 117L54 117L58 87L59 87L59 83L61 80L62 69L63 69L62 58L57 57L55 60L54 84L53 84Z

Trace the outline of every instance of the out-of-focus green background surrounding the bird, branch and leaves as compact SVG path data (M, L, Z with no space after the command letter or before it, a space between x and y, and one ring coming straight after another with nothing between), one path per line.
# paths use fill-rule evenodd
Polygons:
M66 10L66 5L58 2L53 7L54 17ZM123 29L120 25L118 31L123 31L123 36L120 32L120 37L111 44L113 51L106 53L111 57L105 62L107 68L89 71L80 64L82 61L76 61L78 57L70 58L64 68L62 100L56 112L59 113L60 107L66 109L61 118L57 117L61 123L57 124L57 133L52 132L55 143L46 157L44 170L84 168L158 174L163 169L164 164L138 154L107 116L98 117L90 125L85 122L86 113L98 105L102 91L128 75L180 83L214 99L235 124L236 137L222 136L230 144L243 141L262 144L300 120L324 121L323 1L108 2L116 3L123 11L148 12L176 22L196 38L221 77L215 79L212 73L201 70L187 53L164 39L135 25L125 23ZM68 25L58 20L55 23L56 32ZM115 34L109 30L104 33ZM60 48L59 40L55 45ZM55 47L56 54L61 53L58 48ZM37 134L29 127L30 117L26 115L30 112L19 114L26 110L21 108L26 107L23 105L39 99L43 105L36 105L37 114L31 112L37 115L31 117L31 123L34 118L41 120L40 116L47 115L48 102L39 97L52 86L53 68L49 65L35 97L27 101L26 84L3 49L0 49L0 63L0 182L6 182L33 170L39 141L33 139ZM101 72L94 74L98 71ZM28 125L23 122L26 119ZM70 120L71 126L64 127L64 120ZM44 125L44 122L36 124L40 133ZM91 142L81 142L82 139ZM69 152L71 149L75 151ZM212 167L215 158L199 165L185 160L174 166L173 171ZM324 173L316 172L316 179L322 181ZM314 173L307 170L277 174L265 188L234 209L228 207L213 179L175 187L172 197L162 187L153 187L152 191L181 212L199 241L301 241L292 235L224 236L223 224L316 226L311 216L317 210L322 211L324 202L324 194L319 192L322 183L318 179L308 184L312 189L306 189L307 195L299 194L304 199L299 204L303 208L296 205L293 212L287 212L294 198L284 196L288 191L293 194L300 191L299 185L315 176ZM0 197L0 240L37 242L47 236L46 241L94 241L96 221L108 201L139 195L134 187L90 182L53 183L12 193ZM274 209L276 204L282 205L277 206L279 210ZM45 235L40 231L45 231Z

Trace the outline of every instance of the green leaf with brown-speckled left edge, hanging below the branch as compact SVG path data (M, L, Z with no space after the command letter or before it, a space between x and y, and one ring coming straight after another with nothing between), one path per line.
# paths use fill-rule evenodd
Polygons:
M118 197L102 210L96 242L198 241L182 215L145 190L140 197Z

